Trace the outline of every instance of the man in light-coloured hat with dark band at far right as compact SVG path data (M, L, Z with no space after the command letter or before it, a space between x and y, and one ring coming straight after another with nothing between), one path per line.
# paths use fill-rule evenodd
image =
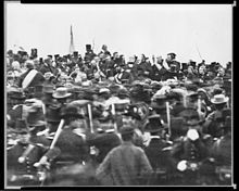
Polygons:
M205 118L205 123L203 124L203 131L205 133L210 133L213 137L219 138L223 133L223 127L225 123L225 116L223 116L223 112L226 109L227 102L229 98L225 97L225 94L215 94L211 102L213 103L215 111L213 111Z

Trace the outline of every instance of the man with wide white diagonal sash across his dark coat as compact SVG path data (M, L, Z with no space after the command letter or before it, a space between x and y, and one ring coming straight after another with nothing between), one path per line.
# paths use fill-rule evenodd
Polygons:
M26 89L28 87L35 87L36 85L42 84L45 77L42 74L35 69L33 61L26 61L27 71L20 76L17 86Z

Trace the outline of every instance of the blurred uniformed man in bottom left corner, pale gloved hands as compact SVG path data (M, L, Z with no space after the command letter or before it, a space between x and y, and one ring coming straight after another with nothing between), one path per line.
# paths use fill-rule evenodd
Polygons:
M38 186L40 180L34 165L38 162L47 165L59 155L60 150L54 148L48 153L50 150L45 145L30 142L29 129L24 119L16 120L15 132L18 133L18 141L7 152L8 186Z

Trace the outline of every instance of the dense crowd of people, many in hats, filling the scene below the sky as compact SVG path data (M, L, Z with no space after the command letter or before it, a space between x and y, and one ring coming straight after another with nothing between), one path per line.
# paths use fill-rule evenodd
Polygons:
M7 104L8 186L231 184L231 62L10 50Z

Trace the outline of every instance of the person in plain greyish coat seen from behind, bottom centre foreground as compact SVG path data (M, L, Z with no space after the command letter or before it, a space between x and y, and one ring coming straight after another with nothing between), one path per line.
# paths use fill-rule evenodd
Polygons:
M97 168L97 179L103 186L139 186L151 175L152 167L142 149L133 143L134 128L121 129L123 143L108 153ZM110 178L111 177L111 178Z

